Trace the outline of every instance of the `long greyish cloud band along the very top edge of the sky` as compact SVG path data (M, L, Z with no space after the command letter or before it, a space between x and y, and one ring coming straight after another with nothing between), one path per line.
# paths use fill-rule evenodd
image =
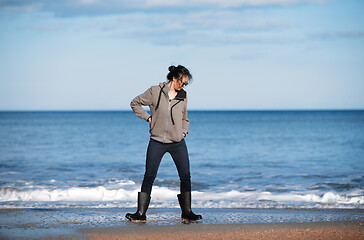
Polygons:
M290 6L321 4L328 0L2 0L0 10L46 11L57 16L115 15L135 11L201 11L206 9L235 9L243 7Z

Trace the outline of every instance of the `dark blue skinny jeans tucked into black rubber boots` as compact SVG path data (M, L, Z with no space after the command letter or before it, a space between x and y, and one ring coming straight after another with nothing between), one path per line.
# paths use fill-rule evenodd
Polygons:
M176 164L181 182L181 192L190 192L190 161L188 159L187 146L184 139L178 143L161 143L150 139L141 191L149 193L149 195L152 192L152 186L154 179L157 176L159 164L166 152L171 154L173 161Z

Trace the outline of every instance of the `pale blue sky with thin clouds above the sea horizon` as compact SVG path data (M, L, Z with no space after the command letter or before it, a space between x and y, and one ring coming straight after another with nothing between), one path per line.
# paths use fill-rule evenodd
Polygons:
M193 75L195 110L364 109L362 0L0 0L0 110L129 110Z

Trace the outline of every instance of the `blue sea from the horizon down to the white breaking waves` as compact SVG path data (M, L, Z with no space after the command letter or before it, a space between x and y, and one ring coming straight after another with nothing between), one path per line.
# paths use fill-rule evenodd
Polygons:
M193 207L364 209L364 111L189 111ZM0 112L0 208L135 207L132 111ZM179 207L167 153L151 208Z

